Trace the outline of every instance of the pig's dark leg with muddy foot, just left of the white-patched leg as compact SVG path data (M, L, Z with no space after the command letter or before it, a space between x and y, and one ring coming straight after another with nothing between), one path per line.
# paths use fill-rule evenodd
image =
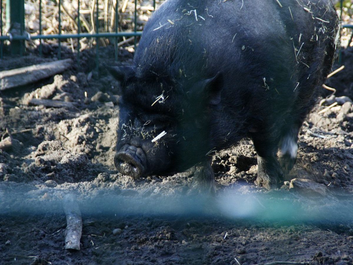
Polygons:
M278 188L283 181L283 172L277 160L278 141L268 135L255 134L252 140L257 153L257 178L255 183L266 189Z

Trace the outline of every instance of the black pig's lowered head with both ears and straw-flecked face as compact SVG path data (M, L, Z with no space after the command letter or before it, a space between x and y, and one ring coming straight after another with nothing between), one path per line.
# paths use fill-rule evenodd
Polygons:
M183 171L209 159L210 120L220 103L220 74L185 84L138 77L132 66L110 67L121 81L114 164L134 178Z

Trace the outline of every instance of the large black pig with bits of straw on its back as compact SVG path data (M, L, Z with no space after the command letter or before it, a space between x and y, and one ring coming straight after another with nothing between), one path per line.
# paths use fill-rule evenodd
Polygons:
M337 31L330 0L165 1L133 66L110 69L122 82L116 168L141 177L202 165L199 183L214 189L213 152L250 137L256 184L278 187Z

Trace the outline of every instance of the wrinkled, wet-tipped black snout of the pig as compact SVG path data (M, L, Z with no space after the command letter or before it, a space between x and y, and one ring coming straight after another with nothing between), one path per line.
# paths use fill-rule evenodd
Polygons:
M142 177L146 171L146 155L140 147L124 145L115 154L114 165L123 175Z

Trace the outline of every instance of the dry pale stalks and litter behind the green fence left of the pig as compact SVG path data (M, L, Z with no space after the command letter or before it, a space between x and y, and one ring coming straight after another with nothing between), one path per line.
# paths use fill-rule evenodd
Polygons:
M96 33L114 32L115 31L115 7L118 1L118 31L134 30L134 10L135 1L133 0L98 0L98 28L96 25L96 1L81 0L80 1L80 32ZM163 0L156 0L156 8ZM40 33L40 1L25 1L25 28L30 34ZM151 12L154 10L153 0L137 0L137 23L136 30L141 31L143 25L148 20ZM42 0L42 34L59 34L59 0ZM61 0L61 34L78 33L78 1ZM3 1L3 23L6 34L6 8ZM45 42L52 42L44 40ZM124 40L125 41L125 38ZM56 40L54 41L56 42ZM63 40L72 49L77 48L77 39ZM39 40L27 42L28 47L35 48L39 45ZM87 38L80 39L80 49L85 49L95 44L95 40ZM109 44L108 39L101 39L101 45Z

